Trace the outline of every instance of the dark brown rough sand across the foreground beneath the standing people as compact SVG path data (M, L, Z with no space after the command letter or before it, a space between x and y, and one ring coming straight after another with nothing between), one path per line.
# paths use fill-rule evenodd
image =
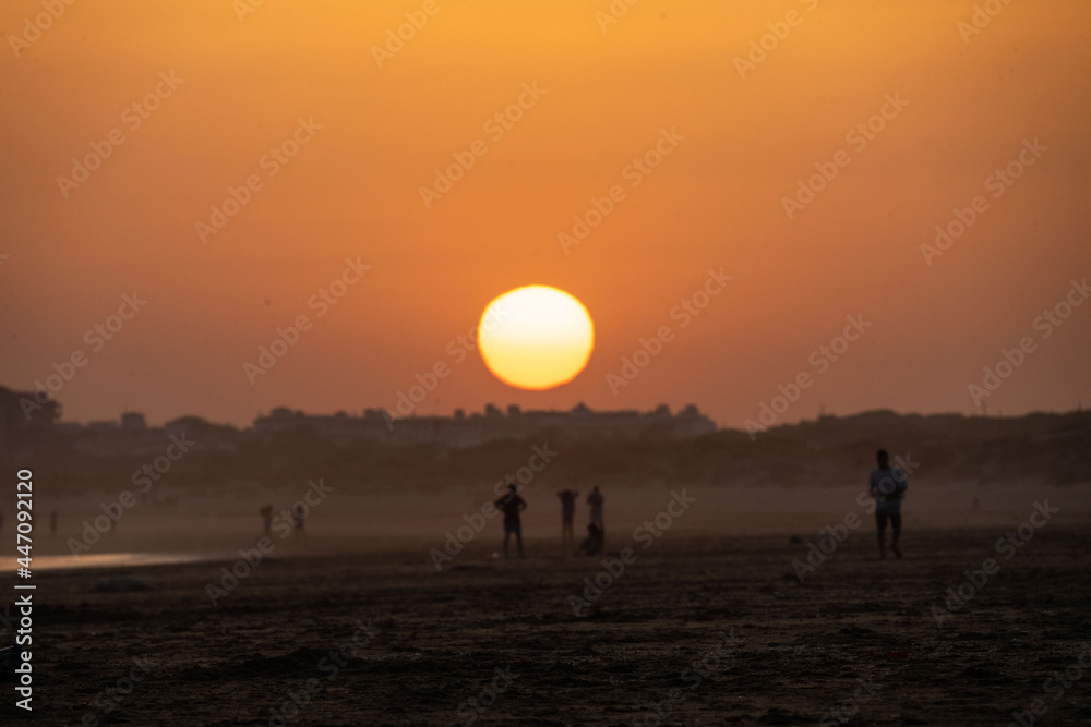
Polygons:
M668 532L585 617L568 596L601 566L547 543L523 561L477 544L442 573L430 546L281 558L217 607L205 584L219 562L45 572L33 718L655 725L658 708L663 724L834 725L842 710L859 725L1006 725L1043 700L1036 724L1091 724L1091 669L1046 681L1081 652L1091 665L1091 530L1051 524L1010 560L994 547L1003 534L908 533L906 558L880 561L861 530L801 584L791 561L806 546L787 537ZM938 627L931 608L988 557L999 572ZM88 592L110 572L155 591Z

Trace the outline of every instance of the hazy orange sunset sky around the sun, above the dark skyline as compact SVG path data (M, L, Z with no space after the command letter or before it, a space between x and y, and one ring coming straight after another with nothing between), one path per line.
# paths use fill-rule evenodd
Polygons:
M372 48L425 4L380 68ZM972 35L958 24L974 3L951 0L642 0L603 32L609 8L266 0L240 20L231 0L83 0L37 34L40 1L3 3L0 385L31 388L82 350L56 393L65 419L243 424L279 404L393 409L444 362L418 413L693 402L741 427L803 373L812 385L778 421L819 405L970 412L968 386L1030 337L988 411L1091 401L1091 305L1048 338L1033 325L1091 276L1091 5L1012 2ZM741 77L769 23L786 37ZM157 86L140 118L132 104ZM907 105L884 107L898 94ZM520 98L509 129L485 125ZM866 144L847 137L884 108ZM86 181L58 182L115 129L123 143ZM287 163L265 156L297 133ZM1018 180L986 186L1035 138L1046 148ZM420 187L478 140L425 207ZM627 167L657 143L660 166ZM789 219L783 198L839 152ZM251 177L204 244L195 223ZM566 253L559 233L615 185ZM984 211L928 265L921 244L978 195ZM309 305L346 258L370 269L346 274L358 281L336 305ZM672 310L720 268L732 280L682 327ZM452 343L533 283L571 292L596 325L587 369L546 392ZM116 337L85 338L133 291L147 303ZM872 326L843 358L808 361L858 314ZM309 330L251 384L243 364L301 315ZM663 326L659 354L612 387Z

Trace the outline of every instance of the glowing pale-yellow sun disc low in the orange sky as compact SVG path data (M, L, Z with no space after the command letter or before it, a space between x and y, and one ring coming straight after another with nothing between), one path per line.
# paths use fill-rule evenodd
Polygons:
M478 327L484 365L508 386L551 389L584 371L595 328L584 304L550 286L516 288L485 306Z

